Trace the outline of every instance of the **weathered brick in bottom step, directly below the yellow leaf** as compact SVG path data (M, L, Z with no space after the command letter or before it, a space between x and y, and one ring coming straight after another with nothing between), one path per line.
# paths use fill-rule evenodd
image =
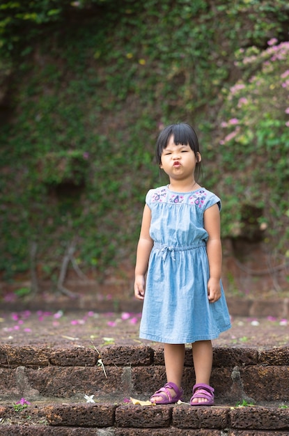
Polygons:
M169 427L172 406L123 405L116 409L116 426L133 428Z

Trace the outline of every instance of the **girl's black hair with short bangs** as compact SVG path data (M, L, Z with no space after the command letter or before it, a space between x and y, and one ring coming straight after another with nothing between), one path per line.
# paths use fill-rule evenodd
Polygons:
M197 155L197 153L200 153L198 137L192 125L189 125L187 123L178 123L164 127L164 130L160 132L159 137L157 138L155 148L155 157L157 159L157 164L162 164L162 152L167 147L171 137L173 137L173 141L176 146L178 146L178 144L189 144L190 148L194 151L197 159L195 169L195 176L197 180L198 176L200 176L202 173L202 169L201 162L198 162Z

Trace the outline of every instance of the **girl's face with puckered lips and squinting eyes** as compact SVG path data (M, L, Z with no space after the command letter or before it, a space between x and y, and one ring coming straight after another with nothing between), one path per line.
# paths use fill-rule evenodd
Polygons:
M173 136L169 139L168 145L162 151L160 168L170 178L183 180L194 176L196 163L201 162L201 155L195 155L189 144L178 144L174 142Z

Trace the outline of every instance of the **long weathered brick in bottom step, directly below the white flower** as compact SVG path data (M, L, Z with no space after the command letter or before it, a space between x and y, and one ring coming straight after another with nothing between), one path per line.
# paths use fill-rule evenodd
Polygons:
M50 426L110 427L114 425L116 405L70 404L45 407Z

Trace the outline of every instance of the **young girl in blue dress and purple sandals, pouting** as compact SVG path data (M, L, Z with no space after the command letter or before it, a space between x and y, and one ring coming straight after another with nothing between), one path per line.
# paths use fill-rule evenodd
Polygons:
M201 154L190 125L166 127L156 156L169 185L146 195L134 282L135 297L144 299L140 338L164 343L167 383L150 401L182 398L185 344L192 343L196 384L190 403L212 405L211 340L231 327L221 284L221 201L198 185Z

